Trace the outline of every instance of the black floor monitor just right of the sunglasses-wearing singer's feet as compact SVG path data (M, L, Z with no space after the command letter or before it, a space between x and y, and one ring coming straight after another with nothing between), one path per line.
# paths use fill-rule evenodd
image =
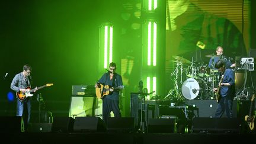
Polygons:
M135 132L134 117L108 117L108 132Z

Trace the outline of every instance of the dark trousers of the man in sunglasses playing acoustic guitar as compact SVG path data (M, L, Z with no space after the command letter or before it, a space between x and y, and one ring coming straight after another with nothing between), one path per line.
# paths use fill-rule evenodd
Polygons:
M121 117L119 100L111 100L107 97L103 98L103 121L107 123L107 118L110 117L110 113L113 111L114 117Z

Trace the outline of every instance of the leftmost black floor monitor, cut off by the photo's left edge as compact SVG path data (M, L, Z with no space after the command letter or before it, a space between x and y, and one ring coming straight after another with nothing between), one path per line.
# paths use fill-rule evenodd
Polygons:
M1 132L24 132L24 121L20 116L0 116Z

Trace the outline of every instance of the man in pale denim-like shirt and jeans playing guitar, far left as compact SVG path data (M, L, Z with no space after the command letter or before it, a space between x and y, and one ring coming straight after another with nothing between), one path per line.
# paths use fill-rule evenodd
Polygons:
M31 88L31 82L32 78L30 76L30 73L32 71L32 68L30 65L24 65L23 66L23 72L18 73L14 76L11 82L11 89L15 92L25 92L29 89L26 89L27 87ZM34 92L37 91L37 88L35 88ZM27 107L27 116L25 116L24 113L24 107ZM28 123L30 122L30 115L31 115L31 99L30 97L26 98L24 101L20 101L17 98L17 113L16 116L22 116L24 120L24 129L27 130Z

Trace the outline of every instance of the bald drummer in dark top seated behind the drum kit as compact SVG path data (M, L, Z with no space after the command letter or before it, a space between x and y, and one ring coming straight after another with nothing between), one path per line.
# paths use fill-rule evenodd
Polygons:
M227 59L225 56L223 56L223 47L218 46L216 48L216 55L212 55L210 58L208 67L211 69L215 69L215 63L219 60L223 59L226 65L226 68L235 68L235 63L231 63L229 59Z

